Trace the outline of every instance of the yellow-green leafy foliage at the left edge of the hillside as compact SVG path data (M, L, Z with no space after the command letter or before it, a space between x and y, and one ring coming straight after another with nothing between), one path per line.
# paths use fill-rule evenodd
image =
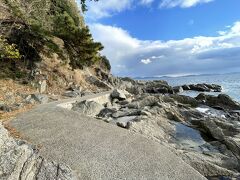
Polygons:
M0 36L0 59L20 59L21 55L15 44L9 44L5 38Z

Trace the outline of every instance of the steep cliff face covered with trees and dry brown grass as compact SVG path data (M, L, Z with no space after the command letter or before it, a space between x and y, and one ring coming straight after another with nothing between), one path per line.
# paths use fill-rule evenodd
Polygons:
M88 78L109 74L74 0L0 0L0 10L0 78L46 80L59 93L71 84L96 90Z

